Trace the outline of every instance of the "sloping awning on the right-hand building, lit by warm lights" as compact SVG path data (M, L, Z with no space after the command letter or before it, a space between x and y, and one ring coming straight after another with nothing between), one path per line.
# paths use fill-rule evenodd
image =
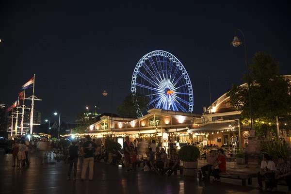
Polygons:
M209 133L209 132L227 132L227 131L238 131L239 122L229 121L229 122L213 122L201 127L190 129L195 133Z

